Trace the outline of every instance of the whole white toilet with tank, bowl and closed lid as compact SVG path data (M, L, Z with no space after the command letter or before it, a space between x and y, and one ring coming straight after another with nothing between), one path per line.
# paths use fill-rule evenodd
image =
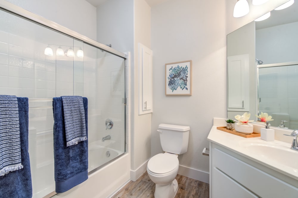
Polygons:
M174 198L178 191L175 179L178 173L178 155L187 151L189 126L172 124L159 125L159 137L164 153L149 159L147 172L155 183L155 198Z

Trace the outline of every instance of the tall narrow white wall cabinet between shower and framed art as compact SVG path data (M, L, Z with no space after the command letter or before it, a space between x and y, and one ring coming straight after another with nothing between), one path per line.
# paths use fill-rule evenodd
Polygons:
M152 50L139 43L139 115L153 112Z

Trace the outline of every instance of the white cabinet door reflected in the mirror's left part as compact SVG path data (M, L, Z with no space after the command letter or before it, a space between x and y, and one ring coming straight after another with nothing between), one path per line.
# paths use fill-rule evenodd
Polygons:
M249 111L249 55L228 57L228 111Z

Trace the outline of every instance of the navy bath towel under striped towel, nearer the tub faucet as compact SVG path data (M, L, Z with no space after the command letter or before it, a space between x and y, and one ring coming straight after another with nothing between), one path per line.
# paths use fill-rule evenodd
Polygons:
M83 97L88 138L88 99ZM88 179L88 140L66 146L62 98L53 98L56 192L62 193Z

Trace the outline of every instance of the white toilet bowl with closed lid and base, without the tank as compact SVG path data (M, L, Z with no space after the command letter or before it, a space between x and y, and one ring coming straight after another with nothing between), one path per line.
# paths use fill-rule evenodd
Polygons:
M159 153L153 156L147 165L149 178L155 185L155 198L174 198L178 191L175 179L178 174L178 155L172 153Z

